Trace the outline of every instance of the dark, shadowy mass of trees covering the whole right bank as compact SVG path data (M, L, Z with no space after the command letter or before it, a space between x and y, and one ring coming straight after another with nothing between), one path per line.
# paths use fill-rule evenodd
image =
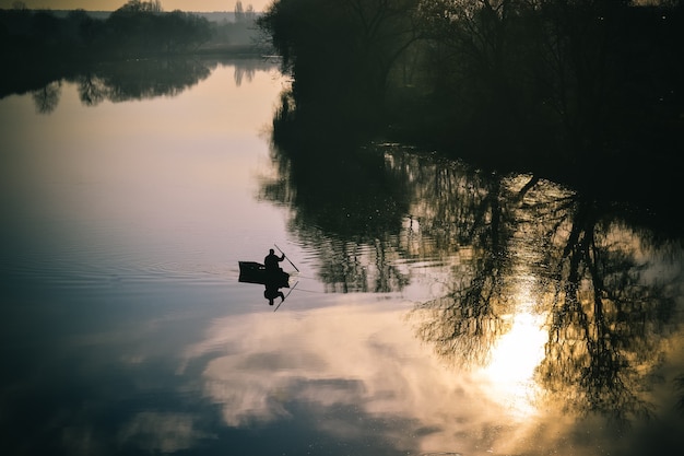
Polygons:
M680 1L276 0L258 24L294 77L283 141L353 125L587 185L684 145Z

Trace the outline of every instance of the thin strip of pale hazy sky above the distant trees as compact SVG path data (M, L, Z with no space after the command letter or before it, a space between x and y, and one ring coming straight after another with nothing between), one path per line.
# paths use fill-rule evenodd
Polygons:
M0 0L0 8L10 9L15 0ZM22 0L31 9L114 11L128 0ZM161 0L164 11L235 11L237 0ZM263 11L273 0L241 0L243 7L252 5Z

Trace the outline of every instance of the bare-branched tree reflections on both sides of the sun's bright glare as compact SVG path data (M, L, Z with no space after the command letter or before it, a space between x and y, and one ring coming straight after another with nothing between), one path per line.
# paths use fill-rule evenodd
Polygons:
M649 261L673 254L673 245L654 244L611 207L521 180L492 176L457 187L458 204L476 208L471 226L455 225L473 258L461 264L448 295L416 307L418 336L462 365L485 365L516 315L544 314L549 337L534 378L546 405L620 423L648 416L675 305L672 278L656 280L658 265ZM517 290L526 281L533 284L531 308Z

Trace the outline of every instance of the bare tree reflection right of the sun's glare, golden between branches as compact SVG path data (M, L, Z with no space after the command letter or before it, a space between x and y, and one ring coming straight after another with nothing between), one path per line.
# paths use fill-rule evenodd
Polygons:
M652 411L645 391L675 302L648 262L657 256L648 233L606 213L579 198L554 233L563 248L547 253L554 293L539 378L567 408L625 422Z

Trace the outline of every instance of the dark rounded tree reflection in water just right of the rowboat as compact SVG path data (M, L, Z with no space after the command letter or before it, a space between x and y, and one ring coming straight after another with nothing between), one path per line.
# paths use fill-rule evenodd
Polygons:
M292 157L292 160L290 159ZM332 147L273 150L274 176L260 198L296 210L290 222L320 259L328 292L398 292L409 282L397 236L406 204L405 183L387 173L382 154L337 153Z

